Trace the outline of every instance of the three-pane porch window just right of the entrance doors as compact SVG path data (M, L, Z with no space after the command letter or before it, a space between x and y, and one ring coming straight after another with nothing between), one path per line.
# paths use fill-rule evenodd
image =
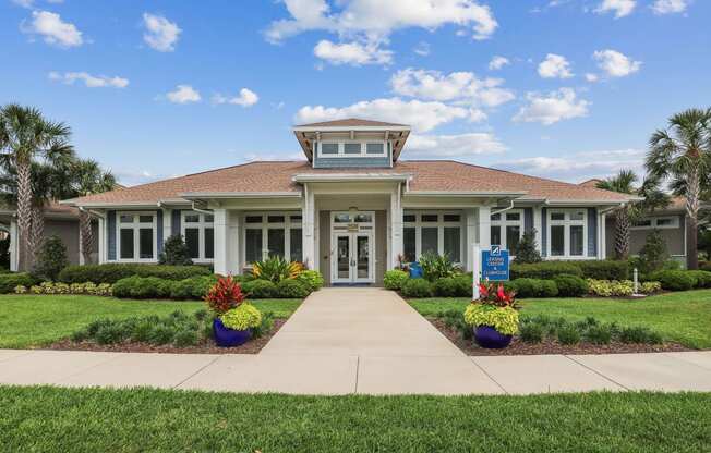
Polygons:
M402 255L406 262L423 254L447 254L455 262L462 258L462 216L458 212L405 212Z

